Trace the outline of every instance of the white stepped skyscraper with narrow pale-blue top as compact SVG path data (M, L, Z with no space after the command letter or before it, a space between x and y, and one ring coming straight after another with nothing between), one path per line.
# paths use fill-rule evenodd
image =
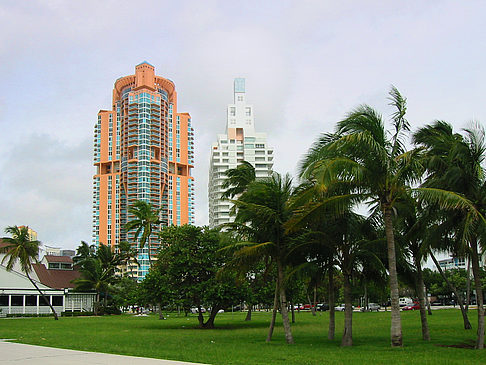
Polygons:
M255 132L253 106L246 103L245 79L234 82L234 102L228 105L226 134L218 134L211 146L209 168L209 226L232 222L232 203L221 200L224 172L236 168L243 160L255 167L256 177L268 177L273 167L273 148L267 145L266 133Z

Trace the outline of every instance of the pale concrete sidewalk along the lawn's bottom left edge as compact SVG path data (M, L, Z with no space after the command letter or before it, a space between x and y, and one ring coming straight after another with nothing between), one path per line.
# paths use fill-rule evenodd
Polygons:
M0 365L4 364L195 365L194 363L189 362L111 355L99 352L64 350L0 340Z

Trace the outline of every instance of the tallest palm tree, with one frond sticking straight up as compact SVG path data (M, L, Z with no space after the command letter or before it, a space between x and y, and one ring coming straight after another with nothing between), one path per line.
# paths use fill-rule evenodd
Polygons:
M387 241L391 345L402 346L393 211L397 196L420 178L421 166L416 158L419 152L406 151L403 144L409 131L406 99L392 87L390 100L395 108L391 135L377 111L359 106L338 122L334 134L324 134L314 144L301 164L301 176L314 176L324 186L340 182L357 200L374 204L374 211L384 222Z

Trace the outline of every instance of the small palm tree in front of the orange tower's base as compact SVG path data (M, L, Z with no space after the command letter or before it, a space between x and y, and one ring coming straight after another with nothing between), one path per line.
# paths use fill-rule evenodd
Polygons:
M150 237L154 228L160 225L160 209L154 210L152 204L143 200L137 200L133 206L128 209L128 213L134 215L135 218L125 224L125 230L127 232L135 230L134 239L138 240L140 237L140 249L143 249L145 244L147 244L148 262L150 267L152 265L150 257Z

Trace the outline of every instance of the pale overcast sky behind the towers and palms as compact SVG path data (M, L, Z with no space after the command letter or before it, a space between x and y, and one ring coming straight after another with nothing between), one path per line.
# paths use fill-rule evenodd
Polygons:
M115 80L148 61L195 128L196 224L208 223L210 145L246 78L274 169L296 176L320 133L360 104L412 129L486 121L484 1L18 1L0 3L0 229L90 242L93 128ZM1 233L0 233L1 235Z

